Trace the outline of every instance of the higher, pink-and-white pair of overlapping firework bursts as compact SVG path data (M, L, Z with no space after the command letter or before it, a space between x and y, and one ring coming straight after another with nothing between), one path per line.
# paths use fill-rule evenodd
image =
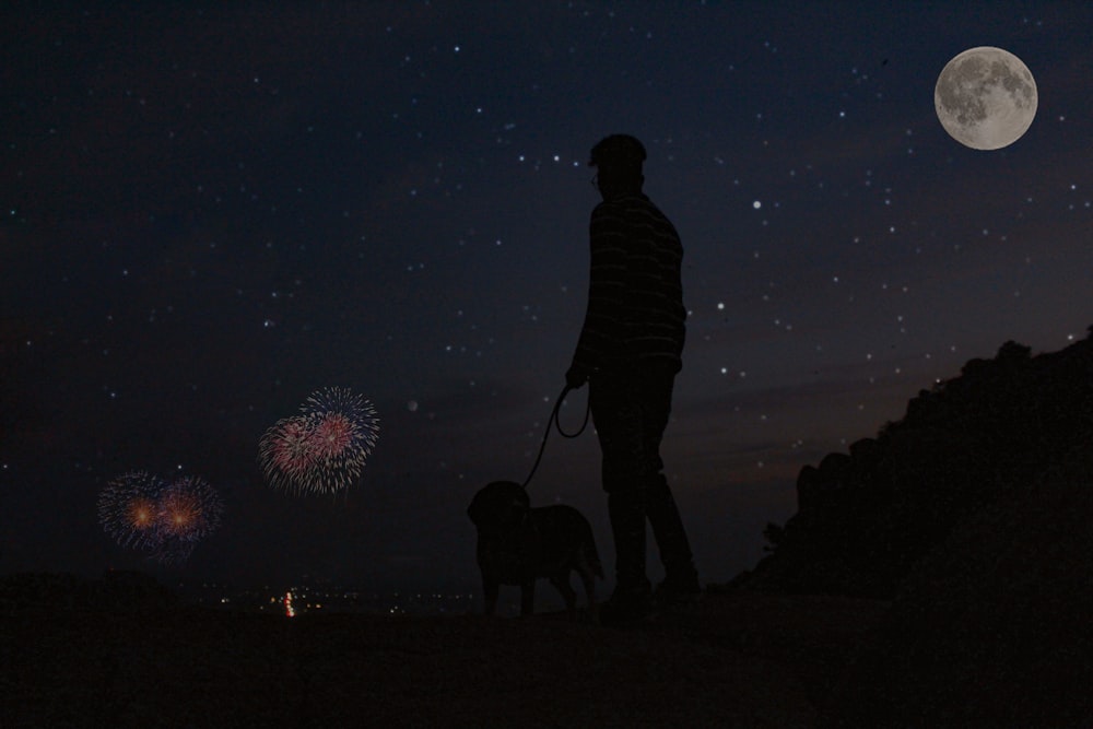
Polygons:
M376 445L373 404L340 387L318 390L294 418L278 421L258 444L270 485L294 493L333 494L361 478Z

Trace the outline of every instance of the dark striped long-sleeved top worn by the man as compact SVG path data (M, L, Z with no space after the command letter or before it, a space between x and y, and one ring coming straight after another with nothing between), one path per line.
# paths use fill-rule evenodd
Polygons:
M573 356L589 372L682 367L686 309L679 234L644 195L604 200L589 225L588 310Z

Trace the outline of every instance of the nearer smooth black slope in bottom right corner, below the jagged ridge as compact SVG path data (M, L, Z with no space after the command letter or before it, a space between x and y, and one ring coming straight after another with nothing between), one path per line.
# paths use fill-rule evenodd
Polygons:
M821 726L1093 726L1093 438L924 557Z

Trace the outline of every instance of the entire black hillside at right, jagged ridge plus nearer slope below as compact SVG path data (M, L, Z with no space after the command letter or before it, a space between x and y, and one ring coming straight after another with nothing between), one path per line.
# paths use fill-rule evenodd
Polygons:
M893 600L821 726L1093 726L1093 339L968 362L798 501L737 585Z

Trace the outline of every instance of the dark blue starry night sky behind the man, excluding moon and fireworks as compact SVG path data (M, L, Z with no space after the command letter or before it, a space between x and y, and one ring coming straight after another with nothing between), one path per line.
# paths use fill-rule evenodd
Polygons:
M1093 324L1086 3L220 5L3 11L0 573L475 585L465 509L524 480L564 385L609 133L685 249L662 455L705 581L762 556L802 466ZM933 109L975 46L1039 92L992 152ZM380 419L362 479L270 489L262 433L332 386ZM131 470L221 493L185 564L98 524ZM591 427L529 490L610 574Z

